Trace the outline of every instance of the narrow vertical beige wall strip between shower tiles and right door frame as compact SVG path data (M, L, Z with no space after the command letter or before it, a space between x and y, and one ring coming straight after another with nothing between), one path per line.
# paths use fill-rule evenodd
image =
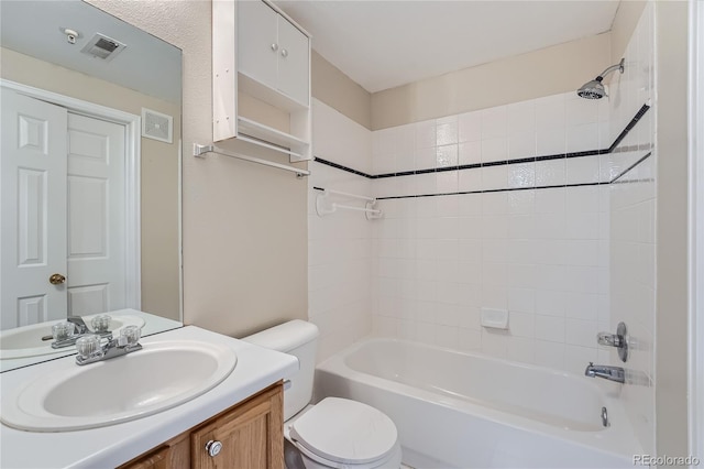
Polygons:
M656 2L656 444L688 455L688 3Z

